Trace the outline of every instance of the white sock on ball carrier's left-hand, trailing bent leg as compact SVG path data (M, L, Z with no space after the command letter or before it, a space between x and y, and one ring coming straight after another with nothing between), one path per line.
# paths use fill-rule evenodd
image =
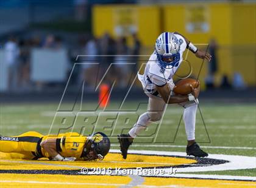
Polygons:
M135 138L141 130L146 129L148 127L149 123L151 123L148 112L143 113L138 118L137 123L134 124L132 129L129 131L129 135L132 136L132 138Z

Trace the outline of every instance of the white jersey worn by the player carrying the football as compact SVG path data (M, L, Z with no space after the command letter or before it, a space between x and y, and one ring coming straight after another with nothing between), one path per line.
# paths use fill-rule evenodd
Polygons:
M177 34L174 35L177 37L177 42L180 42L179 63L175 64L171 69L165 69L158 62L157 54L155 52L152 53L144 69L144 75L138 74L138 79L141 81L146 94L160 97L156 86L164 86L165 84L168 84L171 90L174 87L172 76L174 76L177 69L179 69L182 62L182 54L187 47L186 41L182 36Z

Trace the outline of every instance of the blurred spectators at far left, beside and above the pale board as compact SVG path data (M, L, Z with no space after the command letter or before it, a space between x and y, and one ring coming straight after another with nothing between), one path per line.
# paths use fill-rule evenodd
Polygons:
M10 92L20 92L33 89L34 84L40 86L40 83L30 81L30 53L33 48L42 49L61 49L63 47L62 39L54 35L48 35L45 38L17 38L9 36L4 44L5 61L8 66L8 90Z

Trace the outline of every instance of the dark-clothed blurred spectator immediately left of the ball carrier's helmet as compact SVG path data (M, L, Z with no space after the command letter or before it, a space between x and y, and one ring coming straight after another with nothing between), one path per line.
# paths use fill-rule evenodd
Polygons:
M133 66L132 72L137 74L137 67L138 67L138 60L139 60L138 55L140 55L141 42L138 39L137 33L133 33L132 39L133 39L133 46L131 49L131 51L132 51L131 55L133 55L133 56L132 56L131 61L136 63L136 65Z

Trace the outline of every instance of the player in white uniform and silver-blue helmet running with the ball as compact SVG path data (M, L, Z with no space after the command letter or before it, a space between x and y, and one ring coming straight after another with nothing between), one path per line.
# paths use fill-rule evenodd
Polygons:
M162 118L166 104L180 104L184 107L183 121L187 134L187 155L204 157L208 156L195 141L196 110L200 86L193 88L189 95L175 95L172 92L174 83L172 76L182 62L182 54L185 49L193 52L197 58L210 61L208 53L197 49L188 39L177 32L165 32L158 36L155 42L155 51L149 58L144 69L144 75L138 74L144 92L149 96L148 112L138 118L137 123L130 129L128 134L118 135L123 158L127 157L127 150L133 139L146 129L151 122Z

